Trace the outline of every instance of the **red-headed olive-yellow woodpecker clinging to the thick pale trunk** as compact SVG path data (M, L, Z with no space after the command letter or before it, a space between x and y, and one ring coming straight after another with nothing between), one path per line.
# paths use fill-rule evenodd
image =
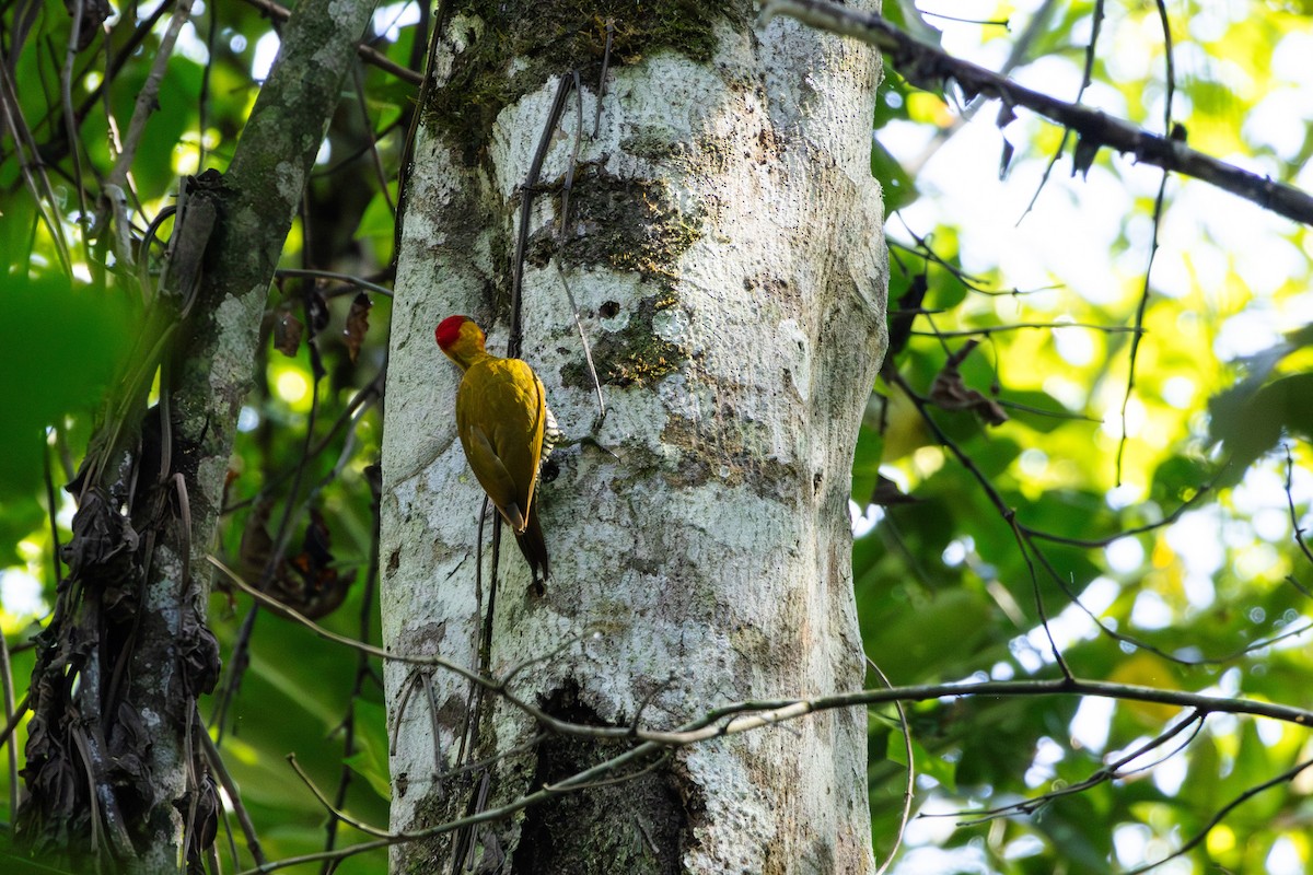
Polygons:
M465 316L448 316L437 345L463 376L456 391L456 433L474 478L515 533L533 588L548 579L548 546L538 525L538 467L551 451L555 420L542 380L519 358L483 348L483 332Z

